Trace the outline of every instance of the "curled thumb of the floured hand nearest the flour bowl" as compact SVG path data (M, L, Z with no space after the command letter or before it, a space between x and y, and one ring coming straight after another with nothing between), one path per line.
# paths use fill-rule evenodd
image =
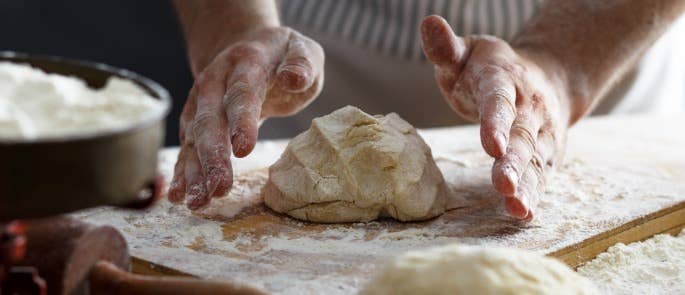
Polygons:
M321 46L298 32L292 32L288 51L276 70L276 83L291 93L306 91L320 76L323 63Z

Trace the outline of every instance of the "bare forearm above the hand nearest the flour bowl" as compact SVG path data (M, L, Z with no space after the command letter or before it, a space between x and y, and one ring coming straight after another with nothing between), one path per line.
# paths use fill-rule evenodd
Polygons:
M278 26L274 0L173 0L194 74L237 36Z

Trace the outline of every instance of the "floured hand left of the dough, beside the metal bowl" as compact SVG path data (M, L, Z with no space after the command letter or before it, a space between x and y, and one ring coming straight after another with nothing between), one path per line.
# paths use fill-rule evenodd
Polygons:
M323 49L290 28L264 27L217 42L181 114L181 152L169 188L169 200L186 200L191 210L231 189L231 149L247 156L261 120L300 111L323 86Z

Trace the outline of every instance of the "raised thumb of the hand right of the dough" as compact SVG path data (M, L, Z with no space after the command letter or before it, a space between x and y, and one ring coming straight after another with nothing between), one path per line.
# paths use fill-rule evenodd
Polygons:
M466 52L464 39L455 36L447 21L437 15L423 19L421 41L428 60L440 67L456 69Z

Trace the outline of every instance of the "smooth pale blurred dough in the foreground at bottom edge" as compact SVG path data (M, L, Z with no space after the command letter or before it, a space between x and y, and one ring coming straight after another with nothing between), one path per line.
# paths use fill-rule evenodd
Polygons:
M360 295L599 294L563 263L533 252L459 244L407 252Z

